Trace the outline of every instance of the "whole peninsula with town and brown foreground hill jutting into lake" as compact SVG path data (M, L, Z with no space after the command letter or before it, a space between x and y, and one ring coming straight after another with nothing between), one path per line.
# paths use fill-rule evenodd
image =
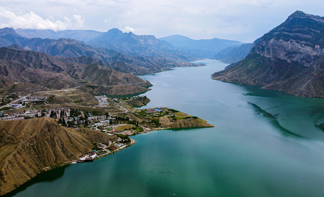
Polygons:
M135 143L131 135L214 127L170 108L133 108L146 105L150 101L146 96L93 97L78 91L72 88L9 96L17 100L2 108L0 115L0 195L43 171L120 151Z

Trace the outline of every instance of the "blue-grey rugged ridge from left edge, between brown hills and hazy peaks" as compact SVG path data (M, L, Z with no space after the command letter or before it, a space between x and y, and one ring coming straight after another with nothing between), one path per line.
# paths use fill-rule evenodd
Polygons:
M73 39L24 38L12 28L0 29L0 46L9 45L12 45L11 48L22 47L53 56L70 57L75 63L88 65L96 63L116 71L136 75L157 72L167 66L188 66L190 64L174 62L161 57L129 55L124 52L93 47L86 42Z

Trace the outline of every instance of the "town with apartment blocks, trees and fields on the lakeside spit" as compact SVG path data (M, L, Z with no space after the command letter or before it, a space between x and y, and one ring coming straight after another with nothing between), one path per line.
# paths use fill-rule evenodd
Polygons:
M178 110L161 107L136 109L150 101L146 96L114 98L99 95L94 96L97 105L87 107L69 103L51 104L52 96L35 95L11 94L4 97L0 120L46 117L70 129L90 128L111 136L111 141L95 145L91 152L71 163L93 161L127 148L135 143L135 140L129 138L131 135L167 128L212 126Z

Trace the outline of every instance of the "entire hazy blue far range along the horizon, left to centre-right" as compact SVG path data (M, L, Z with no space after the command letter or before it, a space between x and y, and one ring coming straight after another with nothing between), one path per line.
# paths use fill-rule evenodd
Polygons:
M136 56L155 56L171 60L188 61L194 58L212 57L228 46L243 44L239 41L209 39L193 40L185 36L172 35L156 39L152 35L123 33L117 28L107 32L94 30L64 30L54 32L40 29L16 29L17 34L26 38L70 38L87 42L96 47L104 47Z

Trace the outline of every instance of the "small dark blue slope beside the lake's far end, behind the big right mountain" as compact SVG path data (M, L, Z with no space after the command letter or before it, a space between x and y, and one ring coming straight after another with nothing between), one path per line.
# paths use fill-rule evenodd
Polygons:
M249 54L252 45L253 43L247 43L227 47L226 49L223 49L222 51L214 55L214 59L220 60L221 62L227 64L239 62Z

